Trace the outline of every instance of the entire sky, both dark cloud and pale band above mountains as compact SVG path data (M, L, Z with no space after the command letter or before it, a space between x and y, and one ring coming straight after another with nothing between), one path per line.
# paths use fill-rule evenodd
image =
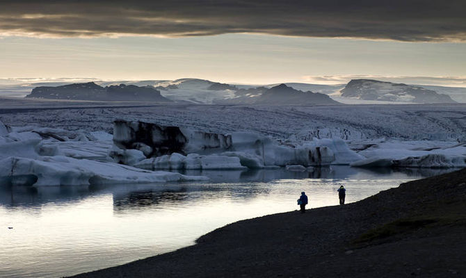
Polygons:
M465 1L3 1L0 78L466 87Z

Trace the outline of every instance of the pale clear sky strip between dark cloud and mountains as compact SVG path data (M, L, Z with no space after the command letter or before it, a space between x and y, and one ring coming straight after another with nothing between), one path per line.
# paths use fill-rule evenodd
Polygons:
M466 44L453 42L257 34L194 38L3 37L0 60L3 80L197 78L251 85L333 85L367 78L466 87Z

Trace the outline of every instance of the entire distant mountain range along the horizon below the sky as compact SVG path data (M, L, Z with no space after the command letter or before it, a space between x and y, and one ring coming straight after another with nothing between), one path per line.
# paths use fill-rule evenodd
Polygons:
M154 88L157 90L161 97L170 99L171 101L177 101L182 103L192 103L192 104L254 104L263 102L264 104L270 103L273 97L259 97L263 95L266 90L282 86L282 84L287 87L293 88L294 90L300 92L312 92L312 93L321 93L323 95L330 95L330 97L335 100L342 102L344 104L366 104L366 103L380 103L380 104L389 104L389 103L454 103L466 102L466 88L446 88L442 86L428 86L428 85L407 85L403 83L390 83L385 81L377 81L374 79L353 79L349 81L346 85L319 85L319 84L308 84L308 83L275 83L268 85L246 85L246 84L229 84L229 83L219 83L214 81L209 81L206 79L194 79L194 78L184 78L176 79L173 81L170 80L143 80L143 81L92 81L87 83L74 83L74 84L88 84L89 92L85 92L85 88L74 88L75 90L80 89L79 94L84 95L84 97L78 97L77 94L72 93L71 89L67 86L72 84L63 84L63 83L50 83L57 86L58 89L70 89L68 92L54 92L54 90L47 86L48 83L35 83L40 86L31 88L33 83L24 86L22 88L31 88L33 94L30 93L27 97L40 97L40 98L49 98L49 99L82 99L82 100L142 100L142 101L154 101L154 95L150 97L141 98L140 95L134 95L136 90L133 87L127 87L127 90L132 91L129 93L131 97L124 97L118 95L118 97L104 98L106 93L103 92L105 88L111 86L121 86L122 84L130 86L134 85L139 87L138 90L148 90L148 88ZM359 85L358 85L359 84ZM77 86L77 85L75 85ZM97 88L96 86L101 86L102 88ZM38 90L47 89L49 93L37 92ZM111 87L113 88L113 87ZM285 89L283 86L281 87ZM15 90L24 90L20 88L9 87L9 94L15 93ZM93 91L93 92L90 92ZM121 90L120 90L121 91ZM1 92L1 88L0 88ZM31 91L30 91L31 92ZM48 95L47 95L48 94ZM148 92L147 92L148 94ZM24 93L27 95L27 92ZM129 96L128 95L128 96ZM280 103L283 104L301 104L303 101L298 101L295 98L299 98L293 95L293 99L281 99ZM310 97L307 95L300 95L305 97L304 103L312 102ZM275 97L278 97L276 95ZM289 96L288 96L289 97ZM270 98L270 99L268 99ZM316 97L314 97L316 98ZM166 101L164 99L156 99L155 101ZM320 101L330 102L323 100L321 97Z

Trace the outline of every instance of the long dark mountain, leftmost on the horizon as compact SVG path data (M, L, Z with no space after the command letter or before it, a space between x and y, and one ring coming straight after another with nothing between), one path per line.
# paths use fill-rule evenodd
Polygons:
M94 82L74 83L57 87L40 86L33 88L29 98L79 99L95 101L170 101L160 95L152 86L109 85L102 87Z

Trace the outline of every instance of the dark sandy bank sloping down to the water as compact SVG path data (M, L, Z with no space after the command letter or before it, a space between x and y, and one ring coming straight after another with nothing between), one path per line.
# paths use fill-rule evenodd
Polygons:
M243 220L76 277L466 277L466 169L360 202Z

